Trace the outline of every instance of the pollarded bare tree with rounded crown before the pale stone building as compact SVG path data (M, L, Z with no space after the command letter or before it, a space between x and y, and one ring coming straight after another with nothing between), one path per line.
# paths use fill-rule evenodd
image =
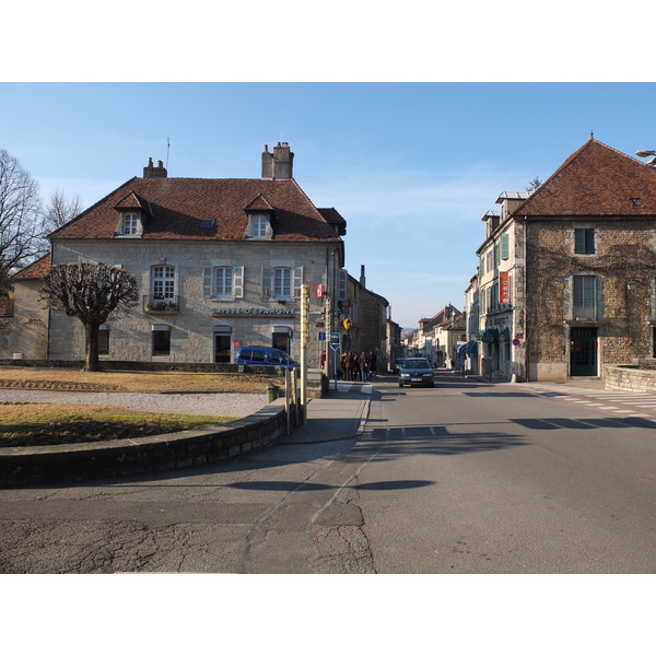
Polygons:
M137 305L137 280L118 267L104 262L57 265L46 276L42 297L54 309L78 317L84 325L84 371L102 371L98 332L114 311Z

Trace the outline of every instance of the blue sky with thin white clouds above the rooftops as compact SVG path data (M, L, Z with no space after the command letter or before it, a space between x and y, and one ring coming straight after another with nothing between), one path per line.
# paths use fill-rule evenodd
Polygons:
M656 148L654 83L2 83L0 148L47 198L92 204L148 157L175 177L294 177L348 221L347 267L415 327L461 308L501 191L544 180L590 137ZM167 140L171 150L167 149Z

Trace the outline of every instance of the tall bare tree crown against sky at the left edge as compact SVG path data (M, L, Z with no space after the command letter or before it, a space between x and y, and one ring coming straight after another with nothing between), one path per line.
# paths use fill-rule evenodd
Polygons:
M43 254L38 183L0 150L0 268L13 273Z

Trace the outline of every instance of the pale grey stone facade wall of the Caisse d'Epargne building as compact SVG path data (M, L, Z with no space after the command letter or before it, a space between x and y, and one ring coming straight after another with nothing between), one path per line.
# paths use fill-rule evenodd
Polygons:
M323 306L313 290L328 284L332 274L327 271L326 245L316 243L243 242L216 244L211 241L104 239L98 242L67 242L57 244L55 265L75 261L79 253L85 258L120 265L134 276L139 284L140 303L150 295L151 268L166 265L175 268L178 308L174 312L149 313L140 305L128 313L109 317L109 354L112 360L142 362L214 361L214 329L229 328L231 360L236 355L236 342L242 345L272 345L277 327L288 328L289 352L298 360L300 298L278 302L262 298L262 266L303 267L304 282L311 289L312 316L321 315ZM234 265L244 267L244 294L239 298L220 300L203 295L206 266ZM248 309L249 314L239 314ZM257 309L257 313L251 312ZM265 314L265 311L269 314ZM231 314L234 313L234 314ZM153 355L154 326L171 331L171 353ZM318 364L324 342L311 332L308 362ZM63 313L52 313L50 324L50 358L79 360L84 354L84 330L81 321Z

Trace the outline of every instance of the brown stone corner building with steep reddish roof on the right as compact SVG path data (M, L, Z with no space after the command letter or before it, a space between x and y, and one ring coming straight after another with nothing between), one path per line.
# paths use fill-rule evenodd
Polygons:
M497 202L477 251L481 373L565 380L655 354L652 166L590 138Z

